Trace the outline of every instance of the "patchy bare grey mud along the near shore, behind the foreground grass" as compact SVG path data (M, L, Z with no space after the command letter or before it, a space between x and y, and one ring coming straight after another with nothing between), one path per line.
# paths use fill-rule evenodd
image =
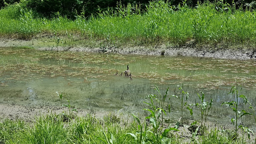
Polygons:
M19 106L19 105L8 105L8 104L0 104L0 122L4 120L5 118L10 120L24 120L28 124L32 124L36 121L36 119L40 116L44 116L47 114L62 114L63 112L68 112L69 109L67 107L58 107L54 106L50 103L41 103L37 105L27 105L27 106ZM133 117L129 112L126 110L119 110L112 113L108 111L92 111L89 109L82 109L77 108L77 115L78 117L86 117L88 114L92 115L93 117L99 119L100 121L104 121L106 117L112 117L116 116L120 118L120 125L123 125L122 120L125 119L125 121L128 119L132 123ZM114 114L114 115L113 115ZM142 114L142 113L140 113ZM136 115L136 114L135 114ZM145 122L144 115L138 115L138 117ZM75 116L76 117L76 116ZM190 123L193 122L193 119L189 120L187 119L183 126L179 126L179 131L176 131L174 135L178 136L179 138L182 138L184 141L191 141L192 138L192 132L190 128ZM103 124L103 123L102 123ZM168 126L174 127L176 124L176 121L164 123L163 127L168 128ZM228 123L225 120L209 120L206 122L206 127L210 129L217 129L219 131L230 131L232 130L232 125ZM240 136L243 136L243 132L241 130L238 131ZM199 132L200 135L200 132ZM246 137L246 136L244 136ZM247 143L252 143L255 139L254 135L251 135L251 139L247 139Z

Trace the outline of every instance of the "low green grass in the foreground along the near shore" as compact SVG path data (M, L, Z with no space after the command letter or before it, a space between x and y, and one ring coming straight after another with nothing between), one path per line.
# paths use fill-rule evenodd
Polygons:
M142 125L147 124L142 123ZM63 121L60 115L51 114L40 116L33 124L22 120L2 119L0 128L0 143L4 144L141 143L138 133L140 129L135 121L125 120L125 123L120 123L120 119L104 121L90 115ZM151 131L152 125L145 129L148 131L144 132L143 128L143 143L236 143L229 136L231 131L221 132L214 128L193 139L179 137L174 131L164 131L167 128L160 128L159 137L156 139L156 132ZM239 138L238 143L246 142L245 139Z

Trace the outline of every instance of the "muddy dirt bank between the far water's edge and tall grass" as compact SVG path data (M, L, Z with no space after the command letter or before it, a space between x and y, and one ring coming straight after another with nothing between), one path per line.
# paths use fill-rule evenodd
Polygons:
M31 47L38 50L57 50L56 38L36 37L31 40L1 39L0 47ZM155 44L150 46L111 46L102 41L62 38L59 51L117 53L138 55L193 56L221 59L256 59L254 46L246 45L196 45L193 41L182 46Z

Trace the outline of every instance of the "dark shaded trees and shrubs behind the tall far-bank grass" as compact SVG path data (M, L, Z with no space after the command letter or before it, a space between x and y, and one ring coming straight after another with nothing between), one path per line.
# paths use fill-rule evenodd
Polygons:
M108 8L116 8L117 3L122 3L123 6L127 6L128 3L131 5L138 5L143 11L146 11L146 5L151 2L151 0L1 0L0 9L12 5L15 3L23 3L25 7L33 9L35 12L40 13L45 17L55 17L55 14L59 12L61 15L65 15L68 18L74 19L76 15L80 15L83 12L85 17L91 14L95 15L101 11L106 11ZM183 0L170 0L167 1L171 6L177 7L183 4ZM205 0L200 1L200 3L208 2ZM209 0L211 3L216 3L216 0ZM189 7L196 7L198 0L187 0L185 3ZM236 8L242 7L255 8L255 0L221 0L220 3L227 4L229 6L236 5Z

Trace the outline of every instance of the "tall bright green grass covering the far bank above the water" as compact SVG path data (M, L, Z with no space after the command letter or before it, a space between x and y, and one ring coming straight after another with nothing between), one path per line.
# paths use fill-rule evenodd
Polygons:
M117 6L99 12L98 16L77 15L76 20L56 14L56 18L41 17L21 4L0 10L0 35L29 39L50 35L101 40L102 45L150 45L165 43L245 44L254 45L256 18L254 11L243 11L221 3L198 4L197 8L172 7L168 3L152 2L146 12L138 6Z

